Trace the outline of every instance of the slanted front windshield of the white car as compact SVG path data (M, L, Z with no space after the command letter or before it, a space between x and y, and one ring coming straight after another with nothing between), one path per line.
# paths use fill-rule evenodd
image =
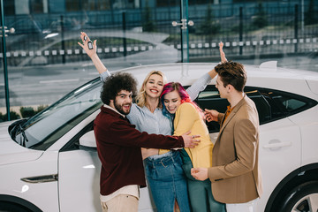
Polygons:
M21 146L46 150L72 127L98 110L102 82L95 79L65 95L20 127L15 140Z

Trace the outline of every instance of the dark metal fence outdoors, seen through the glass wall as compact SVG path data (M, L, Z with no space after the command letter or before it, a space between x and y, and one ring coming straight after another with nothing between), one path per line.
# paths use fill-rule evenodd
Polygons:
M189 7L188 13L194 21L194 26L188 27L189 57L217 56L214 48L220 41L225 43L229 56L264 57L317 50L317 6L212 4ZM15 34L6 39L8 65L87 60L77 44L80 31L98 40L101 58L161 48L160 43L181 49L180 29L171 26L171 21L178 19L177 7L6 17L5 25L16 28Z

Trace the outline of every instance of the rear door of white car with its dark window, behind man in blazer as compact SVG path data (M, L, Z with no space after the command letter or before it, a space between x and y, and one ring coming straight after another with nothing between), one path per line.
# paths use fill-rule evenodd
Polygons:
M276 185L295 167L300 166L301 140L299 126L292 123L280 105L274 90L259 87L246 87L245 93L256 105L260 119L259 163L261 166L264 193L257 201L257 210L264 211L270 193ZM273 100L274 99L274 100ZM196 102L201 109L225 112L230 103L220 95L214 86L208 86L199 95ZM215 143L219 125L216 122L207 123L212 142Z

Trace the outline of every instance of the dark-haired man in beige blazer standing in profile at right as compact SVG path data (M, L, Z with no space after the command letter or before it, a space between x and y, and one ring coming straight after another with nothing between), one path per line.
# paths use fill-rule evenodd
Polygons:
M231 105L224 114L206 110L207 120L219 122L221 129L212 151L212 167L193 168L192 175L211 180L212 193L216 201L226 203L227 212L252 212L254 201L262 193L258 113L243 92L244 66L226 61L216 65L215 70L216 88Z

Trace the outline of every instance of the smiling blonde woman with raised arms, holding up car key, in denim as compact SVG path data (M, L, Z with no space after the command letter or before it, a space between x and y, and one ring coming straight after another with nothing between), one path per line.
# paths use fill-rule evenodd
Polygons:
M96 41L93 42L93 49L88 49L87 42L90 40L87 34L81 33L80 38L83 43L79 43L79 46L85 49L87 55L92 59L102 80L107 79L110 72L96 54ZM187 89L192 99L195 99L199 92L208 85L208 82L215 77L210 74L211 72L205 74ZM163 72L160 71L149 72L144 79L136 98L137 103L133 103L131 111L127 115L129 121L136 125L136 129L140 132L172 134L172 123L169 117L163 115L163 107L160 102L165 83L166 79ZM142 149L148 186L157 211L172 212L176 205L181 212L190 211L186 176L182 170L179 151L170 150L162 155L158 155L158 152L158 149Z

